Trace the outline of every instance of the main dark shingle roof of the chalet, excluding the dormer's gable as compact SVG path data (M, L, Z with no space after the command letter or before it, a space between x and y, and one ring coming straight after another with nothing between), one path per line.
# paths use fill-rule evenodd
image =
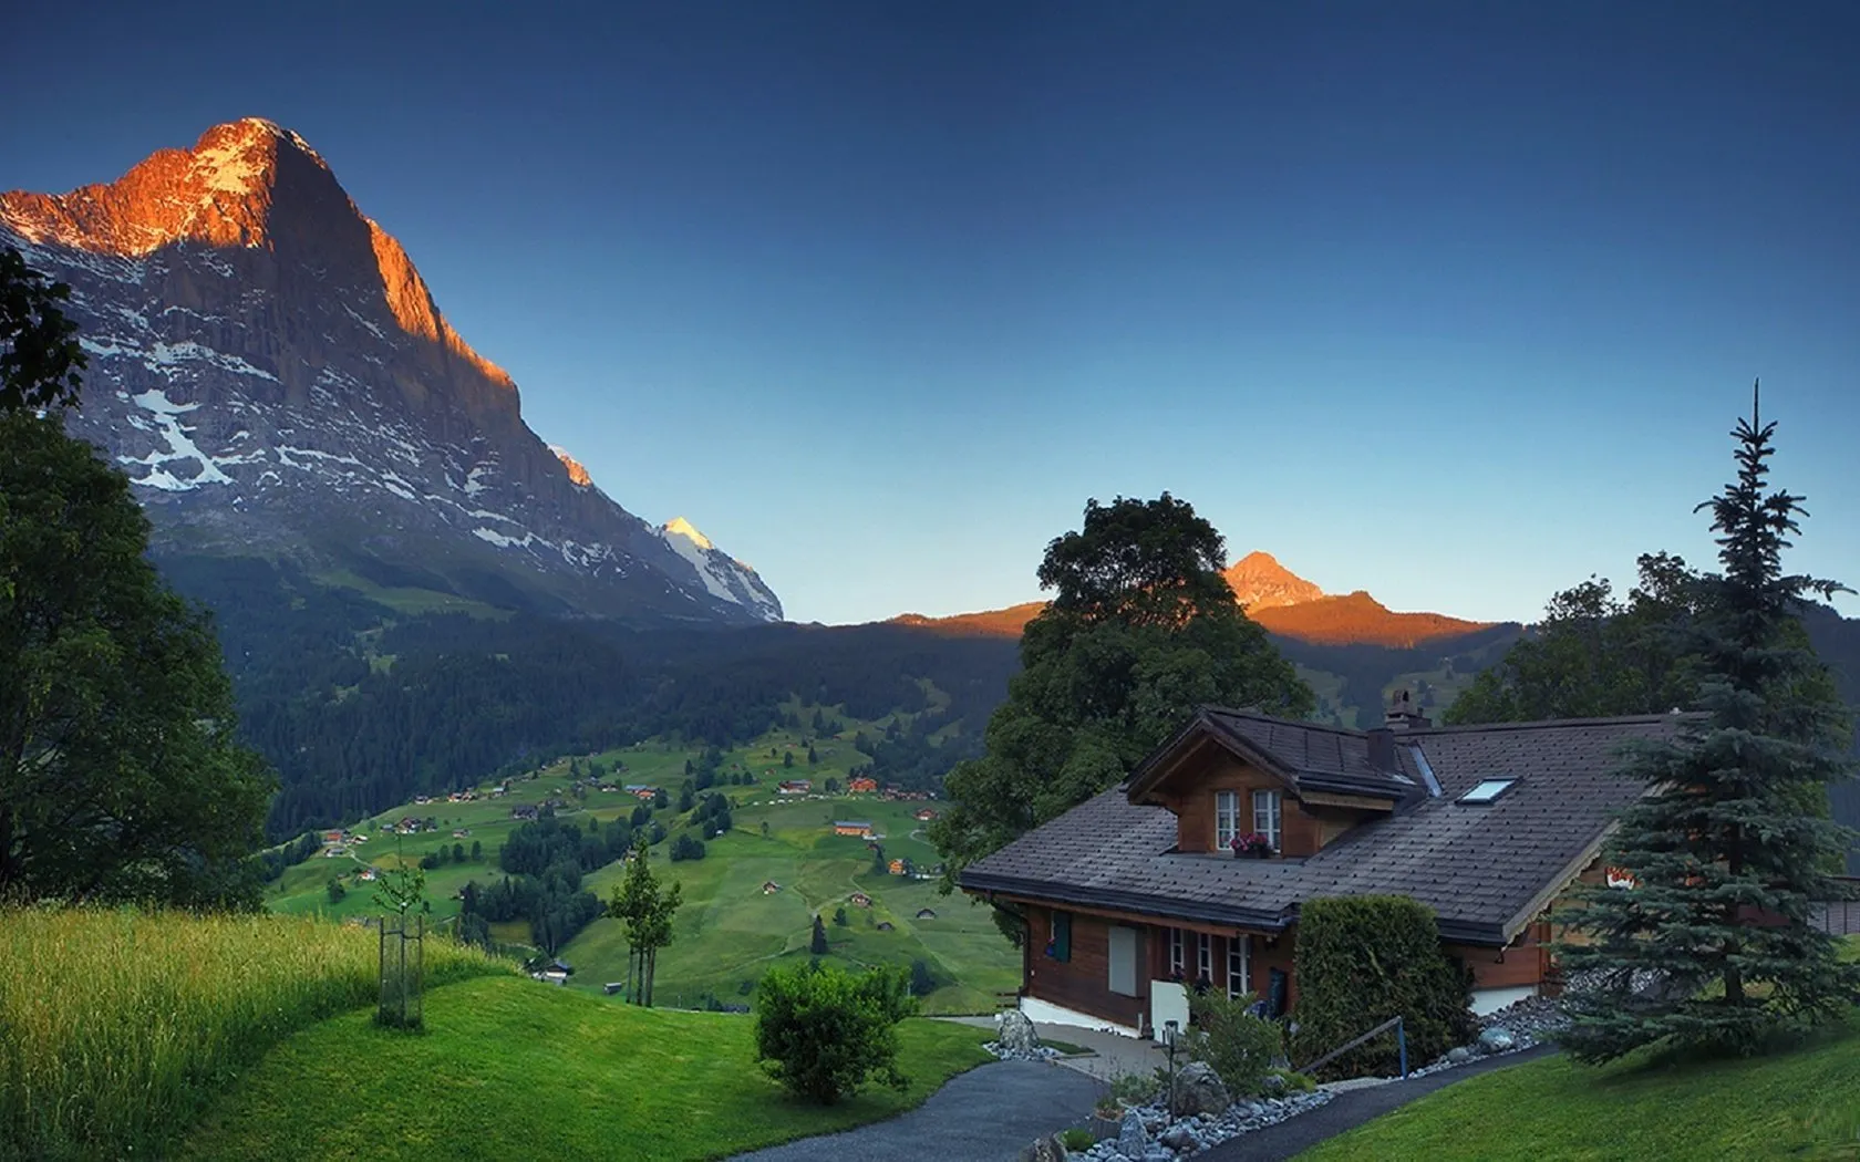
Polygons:
M1222 718L1202 716L1296 757L1300 770L1362 777L1352 768L1367 755L1362 734ZM1131 803L1133 779L976 861L962 887L1263 931L1295 922L1304 900L1393 892L1430 905L1449 939L1505 944L1594 857L1613 812L1639 796L1639 785L1614 773L1624 747L1670 738L1680 725L1678 716L1646 716L1399 733L1402 770L1419 786L1425 764L1442 794L1410 796L1389 818L1308 859L1179 853L1176 816ZM1492 777L1516 785L1488 805L1456 801Z

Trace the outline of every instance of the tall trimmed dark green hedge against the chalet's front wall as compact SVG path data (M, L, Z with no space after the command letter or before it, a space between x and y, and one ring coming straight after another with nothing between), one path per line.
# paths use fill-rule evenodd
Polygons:
M1293 1060L1311 1062L1401 1015L1408 1067L1419 1069L1477 1028L1471 972L1440 946L1434 911L1408 896L1311 900L1298 909ZM1395 1032L1319 1071L1322 1080L1393 1075Z

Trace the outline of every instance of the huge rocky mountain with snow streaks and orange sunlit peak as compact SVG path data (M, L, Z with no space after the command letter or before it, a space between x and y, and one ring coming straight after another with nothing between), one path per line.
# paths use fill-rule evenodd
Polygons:
M136 482L158 550L539 612L781 619L753 569L547 448L290 130L218 125L112 184L4 193L0 245L73 286L89 370L67 424Z

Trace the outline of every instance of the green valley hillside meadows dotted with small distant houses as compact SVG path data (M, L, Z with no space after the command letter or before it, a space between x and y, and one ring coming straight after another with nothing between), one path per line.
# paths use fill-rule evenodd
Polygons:
M813 706L790 705L802 720L811 720ZM937 894L932 881L874 874L872 850L863 838L837 837L835 820L861 820L874 825L884 838L887 863L910 859L921 868L936 865L936 850L924 840L924 824L913 818L917 809L936 809L923 801L882 801L878 796L826 796L828 779L841 786L850 770L863 766L867 755L852 747L856 733L880 736L889 720L854 721L841 716L844 729L830 738L811 738L807 733L774 731L753 744L724 753L725 773L748 772L751 786L718 785L711 792L731 798L735 831L709 842L701 861L668 863L658 857L658 870L684 885L684 907L677 917L675 939L660 952L657 1000L666 1006L699 1006L705 995L724 1004L740 1004L753 984L785 956L805 956L813 917L831 918L844 905L848 924L828 924L831 956L852 967L872 963L910 965L923 959L937 982L924 997L932 1013L993 1011L997 993L1019 985L1019 954L995 930L988 911L962 896ZM813 742L817 764L807 762L807 744ZM783 759L792 755L794 764ZM664 742L638 744L625 749L580 757L580 762L610 770L603 781L614 785L642 783L666 788L673 805L655 818L677 835L683 820L675 811L679 785L684 781L686 760L698 760L701 747L683 747ZM290 866L272 885L268 905L286 915L322 915L331 918L370 915L379 911L374 889L361 879L365 868L385 870L396 859L418 861L422 855L454 846L463 848L465 863L445 863L426 872L428 898L435 922L458 915L458 894L469 879L487 883L500 878L497 850L519 825L512 807L560 799L558 818L597 818L603 824L632 812L638 801L623 792L573 792L569 760L556 760L532 772L534 777L512 781L504 798L480 798L471 803L407 803L363 822L355 831L366 842L353 844L340 857L312 855ZM811 779L817 794L789 799L776 794L781 779ZM487 790L487 786L484 788ZM432 818L435 831L398 838L389 825L400 818ZM764 835L766 824L766 835ZM465 831L465 835L454 835ZM471 846L480 844L480 859L471 859ZM339 878L344 887L340 902L329 900L327 883ZM588 891L604 898L619 878L619 865L608 865L584 881ZM779 891L764 894L763 883L774 881ZM872 905L850 904L854 892L870 896ZM919 918L930 909L934 917ZM882 930L880 924L889 924ZM497 937L526 943L523 922L497 928ZM562 957L575 967L573 985L599 991L603 984L625 980L627 944L618 920L595 920L577 935Z

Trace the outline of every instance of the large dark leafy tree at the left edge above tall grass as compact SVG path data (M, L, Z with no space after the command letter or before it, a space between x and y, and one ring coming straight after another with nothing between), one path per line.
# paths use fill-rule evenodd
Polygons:
M0 898L257 905L272 775L128 478L63 431L67 296L0 251Z

